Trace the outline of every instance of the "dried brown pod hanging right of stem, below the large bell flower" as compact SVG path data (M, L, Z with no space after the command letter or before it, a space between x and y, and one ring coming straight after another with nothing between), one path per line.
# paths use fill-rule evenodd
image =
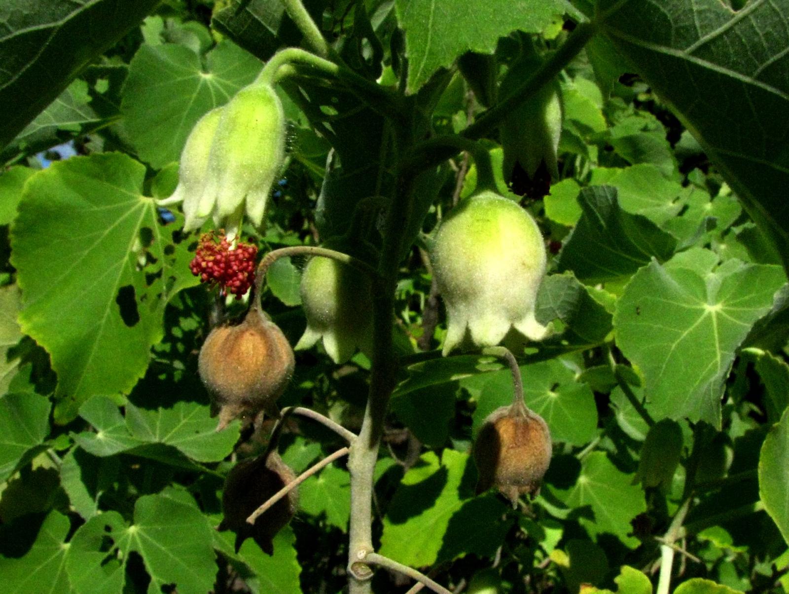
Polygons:
M513 502L536 495L551 464L551 433L540 415L522 403L493 411L473 448L477 493L496 487Z

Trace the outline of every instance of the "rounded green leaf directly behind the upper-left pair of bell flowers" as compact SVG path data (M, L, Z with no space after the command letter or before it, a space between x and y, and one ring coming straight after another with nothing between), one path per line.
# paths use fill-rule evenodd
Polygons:
M188 47L143 44L129 64L121 111L140 159L159 169L181 156L202 115L255 80L260 62L230 41L205 57Z

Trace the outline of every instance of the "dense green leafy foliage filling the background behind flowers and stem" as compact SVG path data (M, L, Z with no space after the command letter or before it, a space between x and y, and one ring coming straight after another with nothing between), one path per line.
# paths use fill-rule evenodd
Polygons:
M516 354L554 457L539 497L512 509L474 494L469 456L511 400L509 371L439 357L425 252L476 167L455 151L414 180L378 551L456 592L663 594L669 542L677 594L789 592L789 2L306 6L352 70L403 98L416 137L481 137L499 192L551 248L537 318L557 333ZM524 197L504 181L495 126L469 128L487 116L458 58L495 55L500 82L523 39L549 58L590 22L556 79L560 179ZM199 234L156 205L194 123L305 43L299 29L279 0L7 0L0 24L4 591L342 591L342 461L301 485L273 556L215 530L224 477L271 423L215 432L196 354L219 298L189 273ZM385 108L318 76L278 91L284 181L265 230L245 229L261 253L342 235L365 198L398 200ZM43 167L36 154L66 141L78 156ZM365 240L380 246L378 231ZM291 344L302 266L278 261L260 295ZM369 370L361 353L338 366L300 352L279 404L358 430ZM279 451L298 473L340 446L302 419ZM398 579L379 570L373 589L405 591Z

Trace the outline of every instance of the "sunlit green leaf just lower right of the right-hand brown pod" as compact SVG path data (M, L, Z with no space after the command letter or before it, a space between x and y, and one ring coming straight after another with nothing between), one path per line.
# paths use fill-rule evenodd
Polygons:
M627 547L638 546L630 521L646 511L644 492L608 460L604 452L592 452L581 462L581 474L573 487L557 491L591 536L612 534Z

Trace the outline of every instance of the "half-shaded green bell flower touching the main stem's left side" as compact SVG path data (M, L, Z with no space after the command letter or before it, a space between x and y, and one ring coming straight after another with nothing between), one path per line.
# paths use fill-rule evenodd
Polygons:
M301 276L307 329L296 350L323 339L335 363L361 348L372 353L372 283L365 273L331 258L312 258Z

